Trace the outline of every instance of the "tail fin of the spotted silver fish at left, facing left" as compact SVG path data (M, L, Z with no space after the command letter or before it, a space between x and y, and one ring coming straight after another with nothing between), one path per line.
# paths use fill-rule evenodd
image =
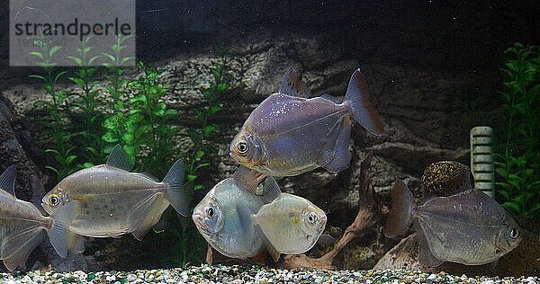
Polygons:
M167 200L176 212L186 217L188 201L184 188L184 163L182 163L182 160L176 160L175 164L166 173L163 182L166 183Z

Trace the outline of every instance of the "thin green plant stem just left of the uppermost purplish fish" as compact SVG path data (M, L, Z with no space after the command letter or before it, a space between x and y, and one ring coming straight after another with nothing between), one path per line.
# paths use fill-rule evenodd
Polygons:
M218 129L218 126L210 120L216 113L221 111L221 100L224 93L229 91L232 84L231 68L226 59L221 57L220 62L211 67L211 81L207 88L200 92L204 98L202 105L194 108L197 125L187 130L189 138L193 142L191 155L186 156L186 173L189 182L195 182L199 170L210 165L210 156L215 145L208 143L208 138ZM204 143L202 143L205 141ZM194 190L202 189L201 184L195 184Z

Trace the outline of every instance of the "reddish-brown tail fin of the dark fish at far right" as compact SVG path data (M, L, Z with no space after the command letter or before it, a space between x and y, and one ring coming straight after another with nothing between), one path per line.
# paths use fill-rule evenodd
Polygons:
M384 235L396 237L405 233L412 222L414 197L412 192L401 180L397 180L392 188L392 209L388 214Z

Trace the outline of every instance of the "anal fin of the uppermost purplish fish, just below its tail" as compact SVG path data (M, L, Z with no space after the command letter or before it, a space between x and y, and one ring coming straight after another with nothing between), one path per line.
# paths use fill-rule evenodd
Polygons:
M333 148L323 152L321 166L331 173L339 173L347 168L351 162L351 152L349 151L349 139L351 137L352 121L345 117L342 123L338 123L339 134Z

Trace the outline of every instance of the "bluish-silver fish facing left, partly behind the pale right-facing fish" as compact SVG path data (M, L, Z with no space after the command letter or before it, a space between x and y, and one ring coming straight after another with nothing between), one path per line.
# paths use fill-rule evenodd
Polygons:
M192 216L201 235L216 251L238 259L255 257L264 248L265 237L253 225L251 216L280 193L264 189L263 196L253 194L258 181L249 180L245 170L240 167L233 178L216 184L193 209Z

